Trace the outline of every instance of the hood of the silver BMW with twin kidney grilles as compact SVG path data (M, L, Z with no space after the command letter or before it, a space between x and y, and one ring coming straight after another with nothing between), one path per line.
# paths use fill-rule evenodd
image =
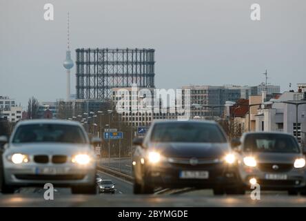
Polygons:
M10 144L6 149L8 153L24 153L29 155L75 155L78 153L92 153L89 144L65 143L27 143Z

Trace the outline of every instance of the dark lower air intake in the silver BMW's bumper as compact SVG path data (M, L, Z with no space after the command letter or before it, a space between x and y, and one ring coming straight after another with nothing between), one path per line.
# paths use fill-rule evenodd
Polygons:
M16 174L15 177L19 180L83 180L85 175L34 175L34 174Z

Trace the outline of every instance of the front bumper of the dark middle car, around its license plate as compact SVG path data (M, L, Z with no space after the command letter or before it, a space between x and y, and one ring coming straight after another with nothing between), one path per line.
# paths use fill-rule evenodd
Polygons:
M205 179L183 178L181 177L182 171L207 171L208 177ZM145 182L165 188L195 187L199 189L210 189L217 186L232 187L240 183L236 166L225 166L224 164L150 167L145 173Z

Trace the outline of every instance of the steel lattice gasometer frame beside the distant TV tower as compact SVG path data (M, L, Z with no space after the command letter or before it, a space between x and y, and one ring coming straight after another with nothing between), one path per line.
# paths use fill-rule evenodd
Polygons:
M154 88L154 49L76 49L76 99L110 99L111 89Z

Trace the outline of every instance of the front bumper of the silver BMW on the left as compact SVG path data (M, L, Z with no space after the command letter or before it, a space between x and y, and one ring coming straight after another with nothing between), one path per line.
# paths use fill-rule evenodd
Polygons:
M7 164L4 177L10 186L40 186L52 183L55 186L75 186L95 184L96 166L77 166L74 164Z

